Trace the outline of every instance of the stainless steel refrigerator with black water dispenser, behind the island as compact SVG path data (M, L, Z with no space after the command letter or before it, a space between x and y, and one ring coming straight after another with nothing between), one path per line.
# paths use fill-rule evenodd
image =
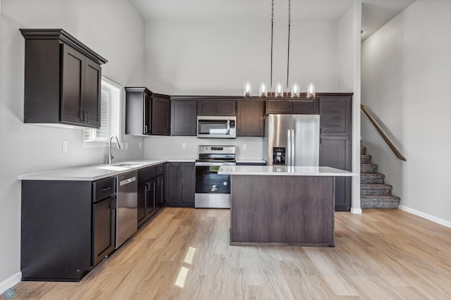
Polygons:
M319 115L268 115L263 151L268 165L318 166Z

